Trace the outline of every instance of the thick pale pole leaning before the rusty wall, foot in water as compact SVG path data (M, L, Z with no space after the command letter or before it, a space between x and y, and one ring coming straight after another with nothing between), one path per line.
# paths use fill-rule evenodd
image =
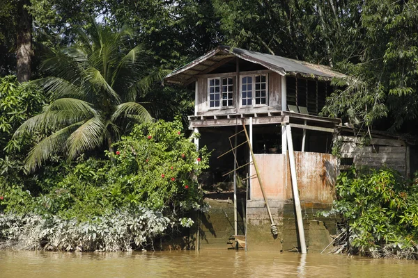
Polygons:
M286 137L289 153L289 162L291 164L291 177L292 177L292 188L293 188L293 202L295 202L296 220L297 220L297 231L299 232L300 251L302 254L307 252L307 244L304 239L304 229L302 220L302 208L300 207L299 190L297 189L296 179L296 165L295 165L295 154L293 153L293 141L292 141L292 130L291 126L286 126Z

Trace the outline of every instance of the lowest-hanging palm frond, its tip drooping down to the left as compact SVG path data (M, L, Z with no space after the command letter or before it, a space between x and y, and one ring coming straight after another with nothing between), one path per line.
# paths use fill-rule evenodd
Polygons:
M33 172L49 157L62 152L68 136L70 136L70 134L80 125L82 125L82 122L71 124L40 141L31 149L28 156L26 156L26 159L24 160L25 169L28 172Z

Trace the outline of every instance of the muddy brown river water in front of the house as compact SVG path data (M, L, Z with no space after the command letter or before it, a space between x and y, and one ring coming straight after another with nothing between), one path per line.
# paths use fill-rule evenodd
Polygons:
M272 252L0 252L0 277L416 277L417 261Z

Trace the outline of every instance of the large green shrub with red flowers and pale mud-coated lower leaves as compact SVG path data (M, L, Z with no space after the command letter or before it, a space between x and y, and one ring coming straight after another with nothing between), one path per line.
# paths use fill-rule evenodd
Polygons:
M128 250L129 245L152 242L153 237L176 225L190 227L189 211L205 208L196 177L208 167L209 154L205 148L197 152L194 143L178 133L180 129L179 121L134 126L130 136L114 144L115 153L106 152L113 160L82 156L77 163L61 161L59 166L49 167L52 172L43 174L39 194L23 185L3 183L0 177L0 213L8 215L7 219L22 218L16 220L22 224L20 238L38 233L47 240L45 248L51 250L75 250L77 242L83 243L83 250ZM198 158L201 161L196 163ZM134 222L134 226L112 228L112 218L136 221L132 212L142 208L148 211L146 219L151 218L149 213L160 215L159 224L140 220L148 224ZM3 240L17 240L14 228L1 223L5 219L0 218L0 240L1 233ZM46 224L49 222L51 227ZM82 227L97 229L84 231ZM100 234L102 228L98 227L109 227L109 232ZM113 231L123 235L116 245L103 238L110 240ZM55 233L59 236L54 237ZM95 238L88 238L93 234ZM36 238L33 242L33 248L38 248Z

